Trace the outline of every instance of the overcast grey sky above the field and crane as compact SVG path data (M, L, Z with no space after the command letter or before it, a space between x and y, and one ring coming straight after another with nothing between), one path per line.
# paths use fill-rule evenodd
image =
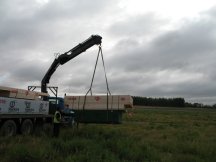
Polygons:
M216 103L215 0L1 0L0 85L27 89L92 34L112 94ZM59 66L50 86L85 94L98 47ZM93 93L106 93L101 60Z

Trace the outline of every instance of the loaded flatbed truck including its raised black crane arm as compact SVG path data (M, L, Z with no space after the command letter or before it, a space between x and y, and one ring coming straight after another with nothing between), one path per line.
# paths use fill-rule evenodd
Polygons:
M36 127L52 124L53 114L58 106L52 104L51 100L49 102L50 97L47 92L47 84L52 74L59 65L63 65L94 45L100 45L101 39L99 35L92 35L55 58L41 81L41 92L1 86L0 134L5 136L14 136L17 133L31 134Z

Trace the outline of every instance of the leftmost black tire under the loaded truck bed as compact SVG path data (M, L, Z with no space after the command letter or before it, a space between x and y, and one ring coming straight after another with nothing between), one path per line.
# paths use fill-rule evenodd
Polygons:
M6 120L0 129L2 136L15 136L17 132L16 123L13 120Z

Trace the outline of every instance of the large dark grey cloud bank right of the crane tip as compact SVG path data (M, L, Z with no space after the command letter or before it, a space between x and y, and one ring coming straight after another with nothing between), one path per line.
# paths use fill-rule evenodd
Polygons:
M216 51L215 26L214 19L206 24L200 19L159 35L148 46L134 40L121 40L115 48L116 53L120 52L115 58L115 64L117 66L119 62L125 62L123 67L127 70L137 66L151 69L190 67Z

